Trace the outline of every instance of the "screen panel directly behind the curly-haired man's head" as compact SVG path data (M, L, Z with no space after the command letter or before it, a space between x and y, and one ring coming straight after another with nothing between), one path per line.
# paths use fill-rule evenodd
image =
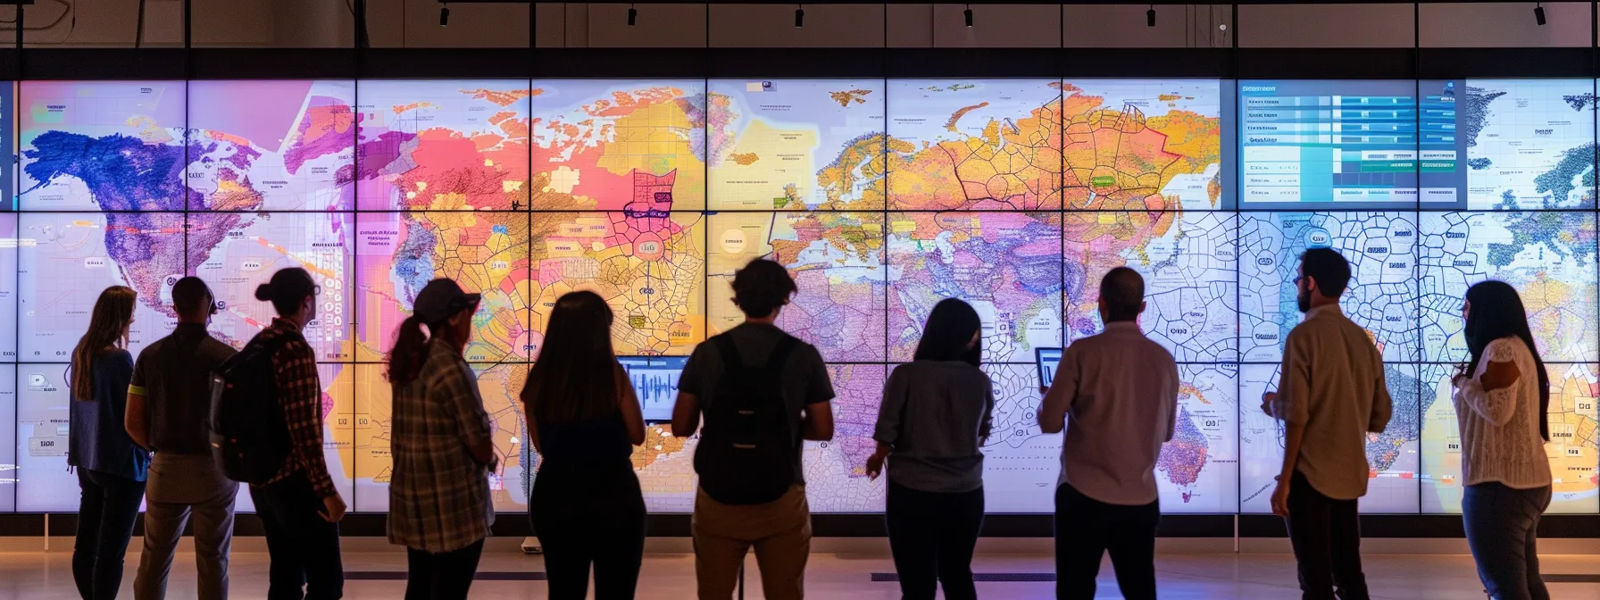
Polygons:
M800 288L778 325L816 346L822 360L885 360L886 272L882 213L712 213L710 323L741 322L733 274L750 259L789 267Z

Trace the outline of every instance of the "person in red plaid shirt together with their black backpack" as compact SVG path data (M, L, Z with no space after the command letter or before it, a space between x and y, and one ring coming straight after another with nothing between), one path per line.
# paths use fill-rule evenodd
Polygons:
M344 499L323 459L322 382L301 330L322 290L306 269L282 269L256 288L278 317L211 376L211 445L250 498L267 538L267 598L344 595L339 520Z

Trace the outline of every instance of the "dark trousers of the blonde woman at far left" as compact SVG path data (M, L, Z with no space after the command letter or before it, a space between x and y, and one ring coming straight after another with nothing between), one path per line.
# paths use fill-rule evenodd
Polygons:
M144 482L78 469L78 534L72 544L72 581L85 600L115 598L122 558L139 518Z

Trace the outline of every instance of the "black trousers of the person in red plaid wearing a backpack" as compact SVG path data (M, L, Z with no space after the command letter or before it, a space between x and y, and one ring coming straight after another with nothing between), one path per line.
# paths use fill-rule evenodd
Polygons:
M344 597L339 523L322 518L322 496L304 472L250 486L267 538L267 600Z

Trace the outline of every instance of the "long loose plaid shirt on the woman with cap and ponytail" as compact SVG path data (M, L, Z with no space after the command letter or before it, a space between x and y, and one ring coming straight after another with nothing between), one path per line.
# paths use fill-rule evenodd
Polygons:
M493 435L478 379L446 344L427 344L416 379L394 387L389 542L450 552L488 538L490 467L469 446Z

